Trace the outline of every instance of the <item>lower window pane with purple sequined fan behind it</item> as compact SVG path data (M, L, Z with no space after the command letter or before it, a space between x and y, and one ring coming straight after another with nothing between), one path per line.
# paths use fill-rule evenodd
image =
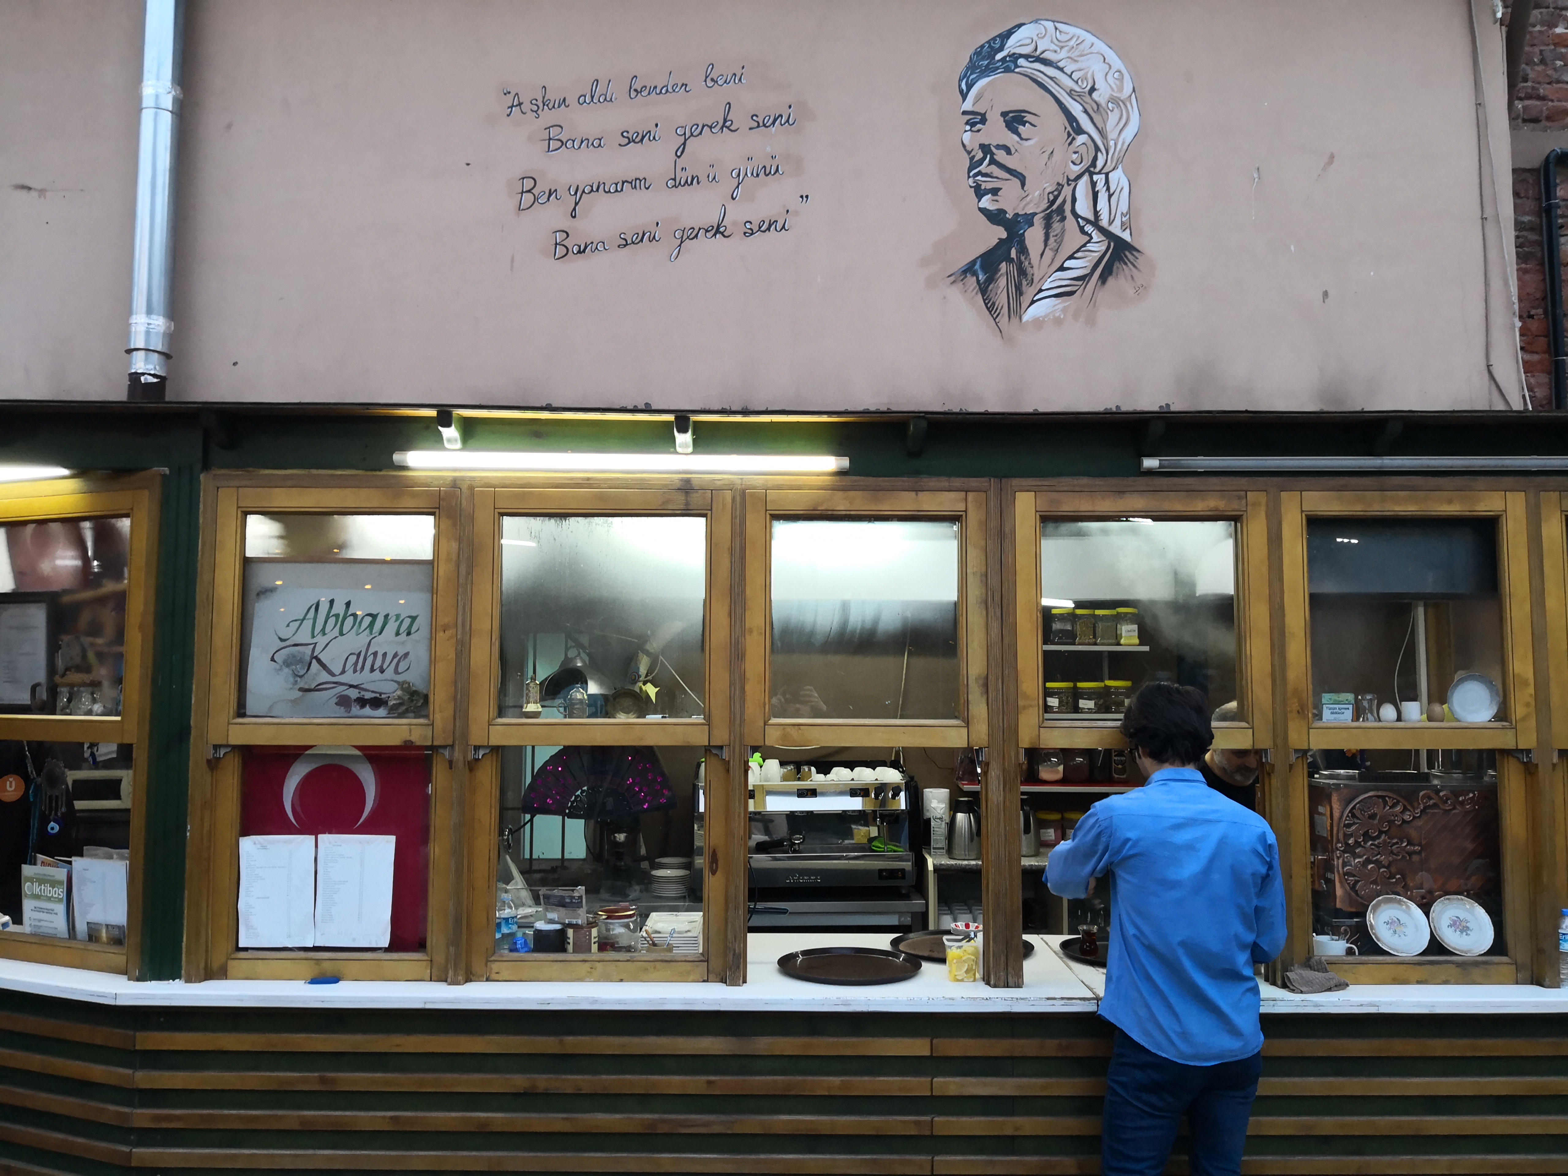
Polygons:
M702 748L502 748L495 953L699 953L701 762Z

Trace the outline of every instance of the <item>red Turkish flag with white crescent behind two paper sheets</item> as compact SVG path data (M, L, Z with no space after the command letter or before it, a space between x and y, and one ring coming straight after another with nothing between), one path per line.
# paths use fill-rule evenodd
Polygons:
M389 952L420 952L430 903L430 753L423 748L246 748L240 836L392 834Z

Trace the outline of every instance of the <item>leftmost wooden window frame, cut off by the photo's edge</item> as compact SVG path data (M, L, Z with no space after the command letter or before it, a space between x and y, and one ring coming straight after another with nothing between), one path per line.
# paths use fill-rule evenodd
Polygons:
M125 586L125 677L121 713L0 715L0 739L49 743L132 745L130 870L125 886L125 946L52 939L16 930L0 935L0 958L127 975L141 958L141 875L147 820L147 728L152 690L152 618L157 601L158 497L162 474L56 478L14 483L0 499L0 524L130 517Z

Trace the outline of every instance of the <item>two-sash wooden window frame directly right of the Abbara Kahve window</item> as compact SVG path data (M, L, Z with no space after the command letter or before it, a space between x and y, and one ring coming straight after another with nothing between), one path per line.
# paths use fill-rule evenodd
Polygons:
M485 980L718 980L728 978L726 942L732 903L724 900L732 869L721 869L721 833L732 823L729 745L734 665L731 489L691 486L558 488L483 485L472 491L472 586L469 607L469 743L481 756L469 768L466 960L470 977ZM577 718L544 721L500 718L500 525L506 516L566 514L585 517L702 516L707 521L706 594L702 602L702 718ZM494 942L495 839L500 820L502 746L706 746L702 887L704 950L699 956L533 956L499 955ZM742 806L743 808L743 806ZM743 817L742 817L743 818ZM743 839L742 839L743 845ZM742 928L745 924L742 924Z

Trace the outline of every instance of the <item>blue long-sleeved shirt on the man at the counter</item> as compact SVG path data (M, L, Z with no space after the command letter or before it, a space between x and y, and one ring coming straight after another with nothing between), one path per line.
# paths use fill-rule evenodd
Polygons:
M1110 873L1110 950L1099 1014L1160 1057L1212 1066L1264 1044L1253 964L1284 947L1273 829L1167 768L1107 797L1051 851L1052 894L1082 898Z

